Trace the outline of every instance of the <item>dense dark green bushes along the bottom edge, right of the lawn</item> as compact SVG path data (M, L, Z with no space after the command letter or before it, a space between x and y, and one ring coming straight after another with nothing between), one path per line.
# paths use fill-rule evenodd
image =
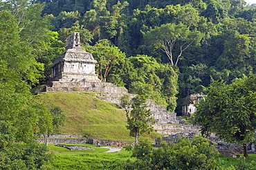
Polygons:
M168 146L161 143L158 149L152 149L151 142L140 140L131 150L136 161L127 161L125 169L215 169L217 150L209 140L194 137L192 142L188 138L179 136L177 143Z

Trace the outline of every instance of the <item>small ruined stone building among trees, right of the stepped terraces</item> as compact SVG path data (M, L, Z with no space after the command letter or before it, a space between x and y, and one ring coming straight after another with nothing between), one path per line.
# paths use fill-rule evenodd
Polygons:
M205 94L191 94L185 98L182 106L182 115L191 115L196 111L196 103L205 98Z

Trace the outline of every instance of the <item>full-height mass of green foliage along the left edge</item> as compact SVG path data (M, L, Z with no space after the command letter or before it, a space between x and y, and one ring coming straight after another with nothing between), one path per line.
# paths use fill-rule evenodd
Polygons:
M42 43L41 35L47 34L43 18L42 23L35 24L41 17L32 8L21 1L1 3L1 169L43 169L46 168L44 163L52 157L46 153L45 145L34 142L36 136L52 130L52 116L46 106L30 93L31 85L39 82L39 72L44 69L43 64L36 61L42 49L37 49L37 45ZM40 25L44 25L43 29L33 30Z

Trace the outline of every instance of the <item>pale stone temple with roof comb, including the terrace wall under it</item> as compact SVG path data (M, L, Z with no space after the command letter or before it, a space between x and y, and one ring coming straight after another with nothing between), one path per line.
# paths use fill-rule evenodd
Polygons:
M51 83L46 92L110 92L127 94L127 89L112 83L102 83L95 74L95 59L80 46L80 34L66 39L66 52L55 59Z

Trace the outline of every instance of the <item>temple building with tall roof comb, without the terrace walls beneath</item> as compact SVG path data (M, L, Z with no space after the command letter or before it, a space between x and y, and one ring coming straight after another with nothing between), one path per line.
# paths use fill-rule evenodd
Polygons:
M66 52L59 56L52 66L53 81L79 82L100 81L95 74L93 55L80 47L78 32L68 36Z

